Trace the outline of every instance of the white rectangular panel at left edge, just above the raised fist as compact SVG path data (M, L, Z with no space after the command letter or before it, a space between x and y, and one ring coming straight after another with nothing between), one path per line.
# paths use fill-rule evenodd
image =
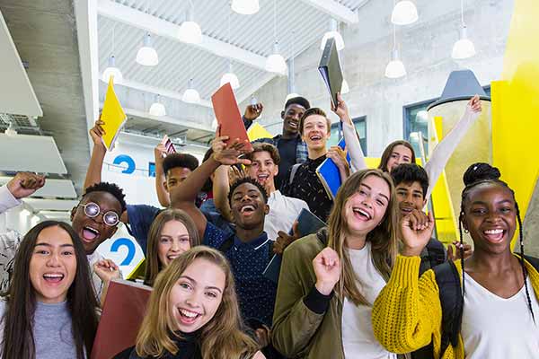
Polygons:
M0 153L0 171L67 172L51 136L0 134Z

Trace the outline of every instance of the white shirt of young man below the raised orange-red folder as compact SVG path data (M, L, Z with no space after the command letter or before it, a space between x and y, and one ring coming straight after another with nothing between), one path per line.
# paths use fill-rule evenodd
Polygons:
M302 208L309 209L304 200L283 196L279 190L268 198L270 213L264 219L264 232L271 241L277 240L278 232L288 232Z

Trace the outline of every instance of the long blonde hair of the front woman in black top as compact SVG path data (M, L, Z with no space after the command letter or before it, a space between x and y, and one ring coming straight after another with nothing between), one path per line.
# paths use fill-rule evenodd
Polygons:
M217 250L198 246L181 253L157 276L146 316L137 335L137 355L161 357L166 352L176 355L174 337L180 337L172 316L169 298L181 274L196 259L204 258L225 273L225 291L214 317L202 328L200 347L205 359L239 359L254 355L259 347L241 331L243 323L235 294L234 277L226 258Z

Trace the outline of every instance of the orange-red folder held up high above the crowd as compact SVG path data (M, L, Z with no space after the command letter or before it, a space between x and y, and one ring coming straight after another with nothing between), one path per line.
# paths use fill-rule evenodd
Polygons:
M230 83L225 83L211 96L217 123L221 126L219 136L228 136L229 141L238 138L240 141L246 141L245 149L252 150L252 144L249 142L247 131L243 126L242 115L235 100L234 92Z

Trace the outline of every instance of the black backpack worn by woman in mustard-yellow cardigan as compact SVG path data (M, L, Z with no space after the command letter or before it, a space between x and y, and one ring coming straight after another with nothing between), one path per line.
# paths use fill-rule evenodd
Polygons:
M526 261L539 271L539 258L524 256ZM455 263L447 261L432 268L436 276L439 288L440 304L442 306L442 338L440 355L446 352L447 346L455 347L458 344L460 334L464 299L462 296L461 277L458 274ZM434 348L432 342L411 354L413 359L433 359Z

